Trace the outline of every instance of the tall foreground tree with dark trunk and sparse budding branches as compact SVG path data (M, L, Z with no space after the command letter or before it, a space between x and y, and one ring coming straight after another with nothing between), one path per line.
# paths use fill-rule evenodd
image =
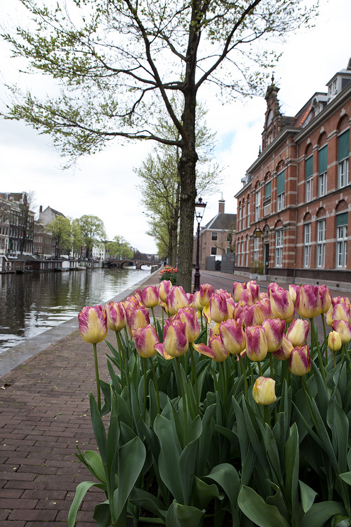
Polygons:
M307 24L316 6L304 0L21 1L32 22L3 37L30 71L52 76L62 90L42 101L12 87L7 118L52 134L71 158L116 137L178 147L177 284L190 291L197 99L205 85L224 98L262 91L277 59L267 41ZM175 92L182 97L180 112L171 102ZM179 139L157 133L161 107Z

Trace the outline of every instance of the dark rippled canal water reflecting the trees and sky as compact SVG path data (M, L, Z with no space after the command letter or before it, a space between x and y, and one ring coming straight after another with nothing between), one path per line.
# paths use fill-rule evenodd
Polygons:
M0 275L0 354L149 275L147 267Z

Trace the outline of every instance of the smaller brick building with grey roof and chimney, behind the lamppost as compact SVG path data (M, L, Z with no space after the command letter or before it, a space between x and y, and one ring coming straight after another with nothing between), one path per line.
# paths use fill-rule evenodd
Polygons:
M218 214L200 228L200 269L206 269L209 256L223 255L234 250L236 214L224 212L223 196L218 202ZM194 236L193 264L196 264L197 236Z

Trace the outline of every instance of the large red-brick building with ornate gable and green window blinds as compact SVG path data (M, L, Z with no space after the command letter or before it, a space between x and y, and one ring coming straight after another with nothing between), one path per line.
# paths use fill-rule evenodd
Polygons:
M235 195L240 274L259 260L269 280L340 288L351 280L351 59L327 87L289 117L280 112L272 77L262 152Z

